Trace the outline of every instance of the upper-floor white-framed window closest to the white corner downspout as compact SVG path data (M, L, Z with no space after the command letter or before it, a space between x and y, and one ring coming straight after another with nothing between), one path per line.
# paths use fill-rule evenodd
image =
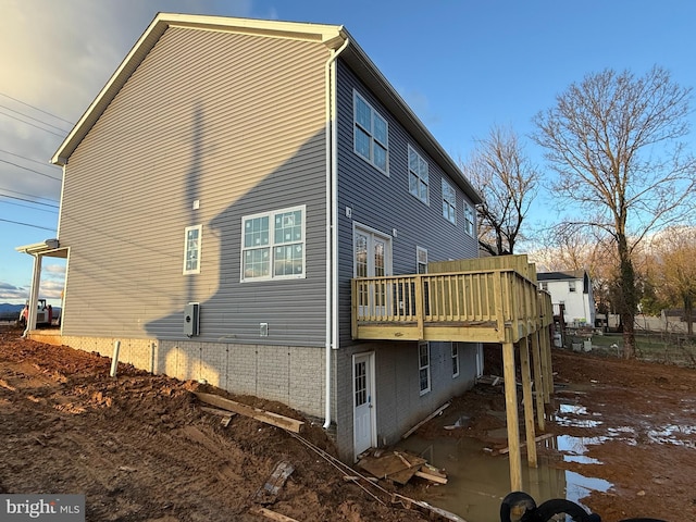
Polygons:
M353 149L378 170L388 173L387 121L353 91Z

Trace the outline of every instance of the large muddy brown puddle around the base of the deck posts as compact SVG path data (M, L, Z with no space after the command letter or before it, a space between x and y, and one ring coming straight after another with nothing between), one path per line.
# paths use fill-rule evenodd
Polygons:
M593 443L586 439L582 444ZM572 451L579 453L575 457L580 458L583 456L580 455L579 444L576 440L561 443L572 447ZM421 455L431 464L444 468L447 472L446 485L428 488L427 502L451 511L468 522L497 520L500 501L510 493L510 464L507 457L487 455L483 443L469 437L426 440L414 434L401 442L399 448ZM535 469L529 468L523 458L522 475L523 489L537 502L549 498L568 498L579 502L592 489L605 492L611 487L606 481L559 470L542 460Z

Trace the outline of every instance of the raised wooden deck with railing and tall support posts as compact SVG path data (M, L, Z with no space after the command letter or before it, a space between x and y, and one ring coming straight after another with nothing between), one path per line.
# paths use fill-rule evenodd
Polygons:
M427 270L427 274L352 279L352 337L501 345L510 488L521 489L515 345L527 462L536 468L534 413L536 410L538 427L544 431L545 405L554 389L551 296L537 288L536 268L526 256L428 263Z

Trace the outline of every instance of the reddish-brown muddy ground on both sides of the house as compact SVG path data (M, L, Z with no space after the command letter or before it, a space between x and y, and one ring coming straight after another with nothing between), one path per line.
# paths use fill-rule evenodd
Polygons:
M487 356L487 371L496 373L496 350ZM588 428L549 421L547 431L609 437L587 453L601 464L558 459L579 473L589 465L592 476L614 485L583 504L610 522L627 515L696 520L696 371L568 351L554 352L554 370L557 399L582 401L588 411L580 420L601 423ZM262 505L259 488L287 461L295 471L277 498L265 499L275 512L300 521L430 520L389 501L393 492L425 497L430 486L381 482L378 489L346 481L349 473L324 458L335 455L331 440L309 420L302 436L319 451L241 415L225 427L190 393L210 390L198 383L123 364L116 378L109 371L108 358L0 331L0 493L86 494L87 520L94 521L254 521L263 520L250 513ZM276 402L236 399L300 418ZM488 412L501 402L501 388L486 385L455 399L450 408L472 422L446 436L486 439L501 422ZM425 425L421 435L440 431Z

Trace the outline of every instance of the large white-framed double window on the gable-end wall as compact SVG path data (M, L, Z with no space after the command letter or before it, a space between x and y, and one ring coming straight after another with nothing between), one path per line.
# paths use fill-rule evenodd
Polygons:
M241 219L241 281L304 277L304 206Z

